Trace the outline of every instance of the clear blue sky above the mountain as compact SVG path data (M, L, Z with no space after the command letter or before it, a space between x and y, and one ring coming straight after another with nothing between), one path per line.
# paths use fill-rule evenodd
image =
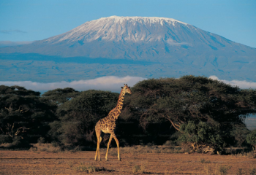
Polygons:
M1 0L0 41L45 39L117 15L174 18L256 47L255 9L255 0Z

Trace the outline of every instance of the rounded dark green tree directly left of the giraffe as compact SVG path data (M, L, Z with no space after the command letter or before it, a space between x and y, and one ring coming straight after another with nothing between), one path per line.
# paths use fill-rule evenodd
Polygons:
M118 93L87 90L61 104L56 111L59 120L50 123L50 136L62 144L94 144L94 127L99 119L116 106Z

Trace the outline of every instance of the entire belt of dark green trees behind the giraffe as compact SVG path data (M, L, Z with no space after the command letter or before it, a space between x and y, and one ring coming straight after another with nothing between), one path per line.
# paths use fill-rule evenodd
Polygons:
M194 76L147 79L131 90L116 121L121 146L179 145L188 152L220 154L225 147L256 145L255 131L244 125L245 117L256 112L256 90ZM95 147L94 126L117 100L118 93L101 90L64 88L40 97L33 90L2 85L0 144ZM103 144L108 137L102 136Z

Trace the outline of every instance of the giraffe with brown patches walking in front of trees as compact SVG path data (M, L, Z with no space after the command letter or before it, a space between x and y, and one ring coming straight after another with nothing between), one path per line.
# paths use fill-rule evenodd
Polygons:
M118 119L118 116L121 113L121 109L123 108L123 101L124 101L125 93L132 94L132 92L129 89L127 84L124 84L124 87L121 87L121 93L119 95L116 107L108 113L107 117L102 118L95 125L95 132L96 132L96 136L97 136L97 150L96 150L95 160L97 160L97 153L99 155L99 144L102 141L102 137L100 136L100 134L102 132L110 133L110 139L108 141L108 149L109 149L109 145L110 145L112 139L113 138L115 139L116 145L117 145L118 160L121 160L120 155L119 155L119 141L115 135L115 128L116 128L116 120ZM107 149L106 157L105 157L105 159L107 161L108 161L108 149ZM100 157L99 157L99 160L100 160Z

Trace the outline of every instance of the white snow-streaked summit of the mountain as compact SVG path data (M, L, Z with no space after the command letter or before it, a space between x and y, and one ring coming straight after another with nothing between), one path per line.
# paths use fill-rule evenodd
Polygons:
M160 41L167 30L175 30L176 26L190 26L172 18L157 17L119 17L110 16L83 23L64 34L45 39L46 42L57 43L82 41L127 41L151 42ZM170 41L170 39L167 39Z

